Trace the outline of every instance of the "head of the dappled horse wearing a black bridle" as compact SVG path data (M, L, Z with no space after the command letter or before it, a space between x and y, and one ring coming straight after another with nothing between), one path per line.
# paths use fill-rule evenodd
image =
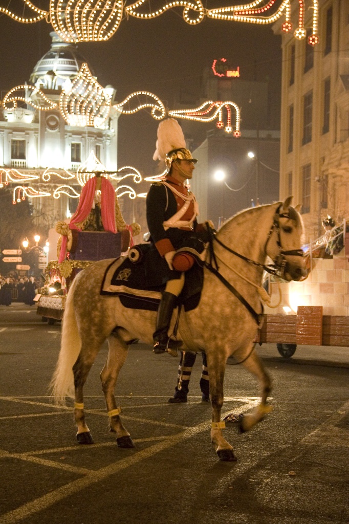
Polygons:
M301 280L308 275L303 257L303 222L300 206L291 207L292 196L280 202L266 243L266 253L274 261L281 278Z

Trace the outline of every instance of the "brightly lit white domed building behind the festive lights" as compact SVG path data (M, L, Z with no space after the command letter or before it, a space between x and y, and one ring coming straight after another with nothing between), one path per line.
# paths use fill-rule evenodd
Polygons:
M51 33L51 49L35 65L28 83L24 83L25 97L35 102L35 87L53 102L59 101L62 87L72 82L86 63L77 46L63 42ZM107 86L113 97L115 90ZM31 197L37 225L50 228L57 220L73 213L78 199L61 193L52 198L62 184L80 193L81 185L76 179L67 180L67 171L76 173L91 154L97 157L108 171L117 170L117 123L120 113L111 108L108 119L102 125L84 126L73 120L67 123L61 112L52 108L42 111L29 104L0 109L0 171L3 181L16 187L30 186L34 192L50 193L48 196ZM75 125L74 125L75 124ZM80 125L79 125L80 124ZM51 168L56 174L45 175ZM25 177L32 180L24 180ZM34 193L32 192L32 193ZM23 192L17 190L14 201Z

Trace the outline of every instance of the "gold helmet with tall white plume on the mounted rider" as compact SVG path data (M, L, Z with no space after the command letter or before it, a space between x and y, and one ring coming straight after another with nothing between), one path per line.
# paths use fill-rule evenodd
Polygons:
M156 150L152 158L165 161L167 172L170 171L173 160L198 161L187 149L182 128L174 118L166 118L160 122Z

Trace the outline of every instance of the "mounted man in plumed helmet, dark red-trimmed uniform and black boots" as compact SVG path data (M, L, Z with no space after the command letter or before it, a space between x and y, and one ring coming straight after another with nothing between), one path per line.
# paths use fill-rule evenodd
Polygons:
M189 191L187 180L193 176L193 158L182 129L174 118L162 121L158 127L154 160L166 161L165 180L151 184L147 195L147 223L151 242L159 254L158 270L165 291L158 308L156 331L153 334L154 353L176 354L182 344L168 335L171 316L177 298L183 289L184 271L190 269L194 258L183 254L181 248L189 247L201 253L207 240L204 224L198 224L199 206Z

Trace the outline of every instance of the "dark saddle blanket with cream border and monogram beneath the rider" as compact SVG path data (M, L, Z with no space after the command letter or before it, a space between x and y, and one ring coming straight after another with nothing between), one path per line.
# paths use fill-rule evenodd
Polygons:
M101 295L118 296L126 308L156 311L166 286L166 281L163 281L161 271L158 270L163 260L151 244L139 244L135 247L140 252L137 261L119 257L107 267ZM178 304L183 304L185 311L197 307L202 285L203 268L194 264L186 271L184 287L178 297Z

